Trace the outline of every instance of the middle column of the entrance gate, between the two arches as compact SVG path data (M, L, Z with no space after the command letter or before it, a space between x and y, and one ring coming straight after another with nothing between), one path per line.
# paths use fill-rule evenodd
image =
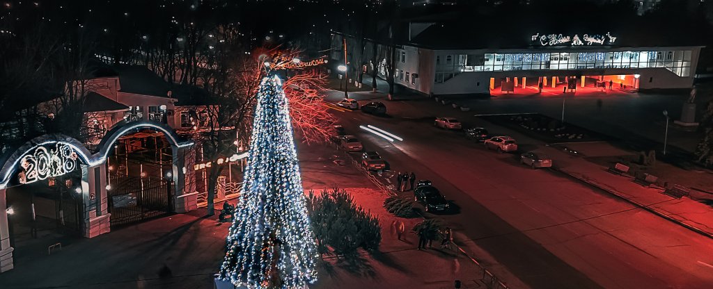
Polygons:
M82 196L84 204L84 232L94 238L111 231L111 214L108 213L106 191L106 163L82 167Z

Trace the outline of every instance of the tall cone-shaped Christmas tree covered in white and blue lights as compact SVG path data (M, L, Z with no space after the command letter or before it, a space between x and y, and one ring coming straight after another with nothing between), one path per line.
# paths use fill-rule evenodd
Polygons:
M287 98L273 73L262 79L242 195L220 278L247 288L306 288L317 280Z

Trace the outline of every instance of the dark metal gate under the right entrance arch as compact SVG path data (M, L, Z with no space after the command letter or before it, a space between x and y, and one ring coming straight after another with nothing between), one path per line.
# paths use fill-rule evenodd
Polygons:
M133 224L173 212L173 186L156 177L111 177L111 226Z

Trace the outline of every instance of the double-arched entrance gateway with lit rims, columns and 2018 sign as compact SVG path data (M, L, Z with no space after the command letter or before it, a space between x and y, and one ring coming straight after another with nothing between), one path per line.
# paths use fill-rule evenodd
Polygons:
M112 130L101 140L99 152L91 154L78 140L66 135L43 135L0 155L0 272L11 270L14 248L10 246L6 189L9 186L58 177L73 168L81 167L81 194L83 203L82 235L93 238L110 230L111 214L107 211L106 158L119 139L134 130L151 129L163 132L172 148L172 179L175 194L173 211L185 213L196 209L195 193L183 194L185 185L185 156L193 142L180 140L173 129L158 122L128 122ZM190 164L188 164L190 166ZM192 170L188 170L192 172ZM15 177L15 178L14 178Z

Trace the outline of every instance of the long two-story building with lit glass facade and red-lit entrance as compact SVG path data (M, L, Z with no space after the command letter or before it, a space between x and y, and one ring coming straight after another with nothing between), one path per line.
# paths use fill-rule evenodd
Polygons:
M483 27L409 23L395 82L430 95L489 94L573 85L619 90L692 88L702 46L638 28ZM385 74L386 59L377 69Z

